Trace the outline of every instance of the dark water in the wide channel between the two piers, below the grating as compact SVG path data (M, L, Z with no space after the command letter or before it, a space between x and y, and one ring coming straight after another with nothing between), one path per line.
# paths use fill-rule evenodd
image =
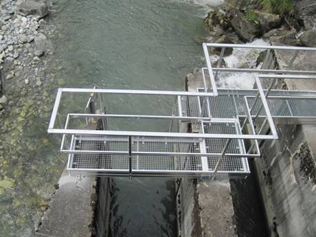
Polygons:
M109 236L177 236L175 205L172 179L112 179Z

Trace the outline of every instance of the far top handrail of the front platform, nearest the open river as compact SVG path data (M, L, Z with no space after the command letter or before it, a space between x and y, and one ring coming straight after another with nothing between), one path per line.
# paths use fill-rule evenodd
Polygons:
M74 93L109 93L109 94L134 94L134 95L192 95L192 96L214 96L211 92L194 91L149 91L129 89L84 89L84 88L60 88L63 92Z

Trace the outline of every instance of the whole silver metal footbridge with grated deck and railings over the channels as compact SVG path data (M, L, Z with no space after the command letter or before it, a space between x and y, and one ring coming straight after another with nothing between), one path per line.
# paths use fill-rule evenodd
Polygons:
M221 48L217 67L210 49ZM220 67L228 47L265 50L260 68ZM275 124L315 124L316 91L278 89L284 80L313 80L293 71L297 54L316 48L203 44L207 67L196 91L60 88L49 133L62 135L67 172L91 176L245 177L260 143L278 139ZM273 51L293 52L286 70ZM216 86L221 72L253 75L253 89ZM70 102L76 105L67 106Z

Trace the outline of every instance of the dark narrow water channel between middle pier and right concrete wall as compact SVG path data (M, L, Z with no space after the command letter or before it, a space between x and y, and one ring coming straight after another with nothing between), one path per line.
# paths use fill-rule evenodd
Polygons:
M268 237L267 220L260 197L256 170L249 159L247 179L230 179L238 237Z

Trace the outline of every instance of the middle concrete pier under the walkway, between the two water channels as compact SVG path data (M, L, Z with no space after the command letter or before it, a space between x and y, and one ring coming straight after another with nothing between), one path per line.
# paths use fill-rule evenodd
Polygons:
M201 71L194 71L185 78L185 89L196 91L203 87L202 83ZM230 192L229 179L182 179L177 194L179 234L182 237L237 237Z

